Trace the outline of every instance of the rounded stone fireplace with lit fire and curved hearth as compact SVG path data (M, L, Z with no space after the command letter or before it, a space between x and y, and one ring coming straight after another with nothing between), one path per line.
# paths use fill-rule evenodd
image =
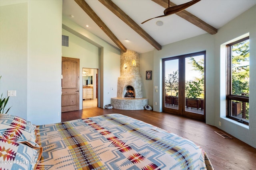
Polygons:
M111 104L115 109L142 110L148 105L148 99L142 97L139 54L131 50L121 52L117 98L111 98Z

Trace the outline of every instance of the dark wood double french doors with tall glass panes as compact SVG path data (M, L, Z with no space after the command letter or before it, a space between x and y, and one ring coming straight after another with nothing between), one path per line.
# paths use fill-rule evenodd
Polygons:
M163 111L205 121L206 52L163 59Z

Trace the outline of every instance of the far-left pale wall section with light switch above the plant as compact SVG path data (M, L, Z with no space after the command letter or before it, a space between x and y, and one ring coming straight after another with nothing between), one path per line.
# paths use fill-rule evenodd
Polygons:
M9 98L8 114L27 118L28 3L5 2L0 1L0 94L16 90L16 97Z

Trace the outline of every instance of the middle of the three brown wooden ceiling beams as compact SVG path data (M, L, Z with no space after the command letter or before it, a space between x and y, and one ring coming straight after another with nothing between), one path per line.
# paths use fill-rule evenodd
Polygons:
M124 23L136 31L142 38L144 38L148 43L150 43L157 50L161 50L162 46L156 42L144 29L142 29L134 20L132 20L124 11L122 11L114 2L111 0L98 0L111 12L113 12L118 18L120 18Z

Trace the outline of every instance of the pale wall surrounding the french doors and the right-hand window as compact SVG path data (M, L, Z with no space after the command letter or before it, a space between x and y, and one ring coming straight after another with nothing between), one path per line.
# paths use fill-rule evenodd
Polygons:
M154 50L154 86L158 92L153 93L154 111L162 111L162 59L198 51L206 51L206 123L214 125L234 137L256 148L256 6L244 12L222 28L215 35L204 34L176 43L165 45L162 50ZM243 125L226 118L226 53L225 44L250 33L250 125ZM224 49L221 47L224 47ZM221 126L218 122L221 121Z

